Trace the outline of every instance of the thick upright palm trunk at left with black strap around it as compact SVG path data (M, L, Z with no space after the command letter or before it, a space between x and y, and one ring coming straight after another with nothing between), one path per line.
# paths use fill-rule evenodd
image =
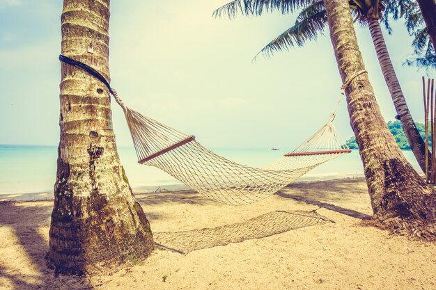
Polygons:
M64 0L61 51L109 79L109 0ZM60 273L93 273L143 259L150 224L116 151L107 88L61 63L61 140L49 231L49 261Z

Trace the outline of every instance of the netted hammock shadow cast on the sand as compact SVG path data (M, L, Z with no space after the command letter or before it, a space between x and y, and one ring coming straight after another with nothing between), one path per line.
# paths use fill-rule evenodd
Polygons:
M316 211L272 211L242 223L219 227L193 229L183 232L155 232L158 248L182 255L194 250L261 239L292 229L334 223Z

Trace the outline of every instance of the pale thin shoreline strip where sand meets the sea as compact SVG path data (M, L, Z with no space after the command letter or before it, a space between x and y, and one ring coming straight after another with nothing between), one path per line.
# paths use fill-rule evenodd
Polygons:
M291 184L302 184L311 182L322 181L339 181L349 179L363 178L363 174L350 174L350 175L337 175L335 173L309 175L307 177L300 177ZM162 184L153 186L132 186L133 193L162 193L162 192L178 192L178 191L191 191L185 184ZM53 191L40 191L34 193L0 193L0 202L20 201L20 202L33 202L40 200L54 200Z

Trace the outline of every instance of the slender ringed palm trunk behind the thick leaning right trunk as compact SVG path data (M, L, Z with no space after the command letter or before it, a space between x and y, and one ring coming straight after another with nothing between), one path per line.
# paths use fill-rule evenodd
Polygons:
M418 161L419 167L421 167L423 172L426 172L426 144L419 134L412 118L412 114L407 107L403 90L401 90L400 82L398 81L394 70L394 65L392 65L391 58L389 57L389 52L386 43L384 42L382 29L380 29L378 19L368 17L368 27L371 32L371 38L373 38L375 52L377 53L378 62L382 68L384 80L387 83L392 101L394 101L394 106L398 117L400 118L400 122L403 125L405 136L409 141L410 149L412 150L416 161Z

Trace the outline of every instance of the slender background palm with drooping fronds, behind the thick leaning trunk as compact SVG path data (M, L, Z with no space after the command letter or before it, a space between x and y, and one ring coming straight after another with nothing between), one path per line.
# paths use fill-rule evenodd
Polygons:
M405 136L410 143L421 169L426 171L426 146L414 123L412 115L405 101L400 82L396 76L382 30L380 16L384 10L380 0L351 0L350 8L353 16L361 24L368 25L377 58L382 69L384 80L387 83L391 98L396 108L397 116L403 125ZM394 5L391 4L391 8ZM295 25L274 38L260 53L271 56L274 51L289 49L295 45L302 46L307 40L316 40L319 33L327 26L327 11L322 0L235 0L227 3L214 12L214 16L228 15L234 17L238 11L246 15L261 15L263 11L280 10L281 13L290 13L297 8L303 8L297 16Z

